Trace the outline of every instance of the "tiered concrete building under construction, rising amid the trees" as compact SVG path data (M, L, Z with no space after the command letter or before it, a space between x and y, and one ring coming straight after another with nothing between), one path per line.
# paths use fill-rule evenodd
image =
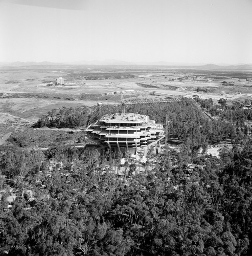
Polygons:
M146 155L150 146L158 151L164 133L162 124L156 124L149 116L132 113L106 115L86 129L87 137L96 143L135 155Z

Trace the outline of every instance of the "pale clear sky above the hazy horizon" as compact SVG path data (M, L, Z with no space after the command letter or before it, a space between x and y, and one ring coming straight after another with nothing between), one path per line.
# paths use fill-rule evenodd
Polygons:
M252 63L252 0L0 0L0 61Z

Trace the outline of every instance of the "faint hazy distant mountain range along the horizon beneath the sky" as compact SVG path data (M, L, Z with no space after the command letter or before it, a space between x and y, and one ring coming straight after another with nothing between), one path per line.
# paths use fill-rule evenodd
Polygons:
M56 63L50 61L28 61L28 62L0 62L0 67L44 67L44 66L166 66L170 68L180 68L180 69L207 69L207 70L252 70L252 64L239 64L239 65L185 65L183 63L172 63L166 61L159 62L128 62L122 60L93 60L93 61L76 61L69 63Z

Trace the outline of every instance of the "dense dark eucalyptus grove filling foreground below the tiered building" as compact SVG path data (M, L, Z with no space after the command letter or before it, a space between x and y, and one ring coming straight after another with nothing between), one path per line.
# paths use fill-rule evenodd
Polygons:
M185 157L186 148L167 148L126 180L102 167L98 151L30 158L10 148L0 161L11 178L1 192L1 254L248 255L251 146L225 148L220 159Z

